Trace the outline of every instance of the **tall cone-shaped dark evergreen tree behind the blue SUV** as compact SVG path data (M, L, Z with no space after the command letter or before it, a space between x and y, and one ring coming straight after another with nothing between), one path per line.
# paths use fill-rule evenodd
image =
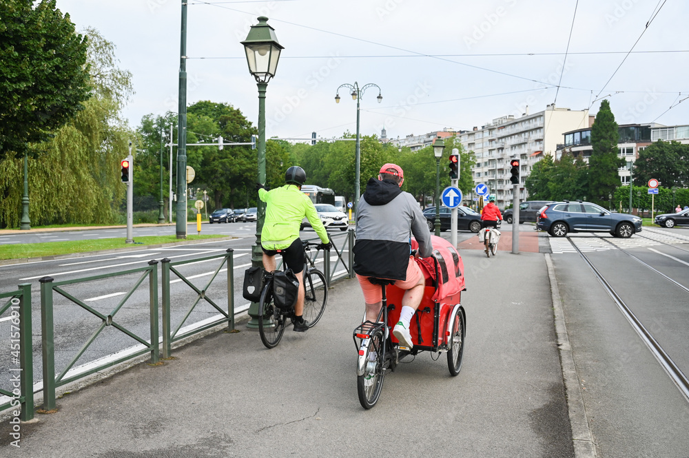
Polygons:
M604 205L608 194L614 194L619 186L617 169L624 165L624 160L617 157L618 141L615 115L610 111L610 103L604 100L591 127L593 151L588 158L588 200L599 205Z

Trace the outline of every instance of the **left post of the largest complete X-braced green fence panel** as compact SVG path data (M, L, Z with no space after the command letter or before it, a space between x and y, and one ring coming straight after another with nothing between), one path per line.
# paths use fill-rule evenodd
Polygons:
M41 344L43 346L43 410L55 408L55 337L52 320L52 277L41 283Z

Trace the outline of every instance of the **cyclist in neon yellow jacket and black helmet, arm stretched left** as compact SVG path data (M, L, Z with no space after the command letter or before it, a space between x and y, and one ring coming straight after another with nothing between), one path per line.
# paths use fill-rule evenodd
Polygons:
M258 198L266 203L265 220L260 234L260 244L263 249L263 267L266 271L276 269L275 256L280 253L288 269L297 274L299 293L294 305L294 331L304 332L309 329L309 322L302 317L304 311L304 278L298 275L304 269L306 262L304 246L299 238L299 227L306 217L311 227L323 242L320 248L332 247L328 233L318 216L316 207L309 196L301 191L306 181L306 172L301 167L292 166L285 174L285 186L267 191L263 186L256 185Z

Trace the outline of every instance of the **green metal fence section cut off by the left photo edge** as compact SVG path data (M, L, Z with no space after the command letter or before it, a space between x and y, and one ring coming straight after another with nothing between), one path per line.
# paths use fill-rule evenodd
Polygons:
M7 300L3 304L3 300ZM34 368L31 339L31 284L19 285L17 291L0 293L0 316L10 311L10 362L8 368L11 387L0 388L0 395L10 397L10 401L0 405L0 412L21 406L19 419L34 417ZM0 342L5 336L0 337ZM3 348L7 348L3 346Z

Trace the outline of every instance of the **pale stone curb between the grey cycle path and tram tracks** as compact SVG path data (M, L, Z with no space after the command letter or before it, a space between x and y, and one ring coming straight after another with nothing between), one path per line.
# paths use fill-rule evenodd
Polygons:
M548 268L548 280L551 283L553 311L555 314L555 333L557 335L557 348L567 397L567 412L572 428L574 456L575 458L597 458L598 454L595 441L593 440L593 433L591 433L588 417L586 416L584 395L579 384L579 374L574 362L572 347L569 343L567 325L564 320L564 311L562 310L562 300L560 300L557 280L555 279L553 260L549 253L546 253L545 257L546 267Z

